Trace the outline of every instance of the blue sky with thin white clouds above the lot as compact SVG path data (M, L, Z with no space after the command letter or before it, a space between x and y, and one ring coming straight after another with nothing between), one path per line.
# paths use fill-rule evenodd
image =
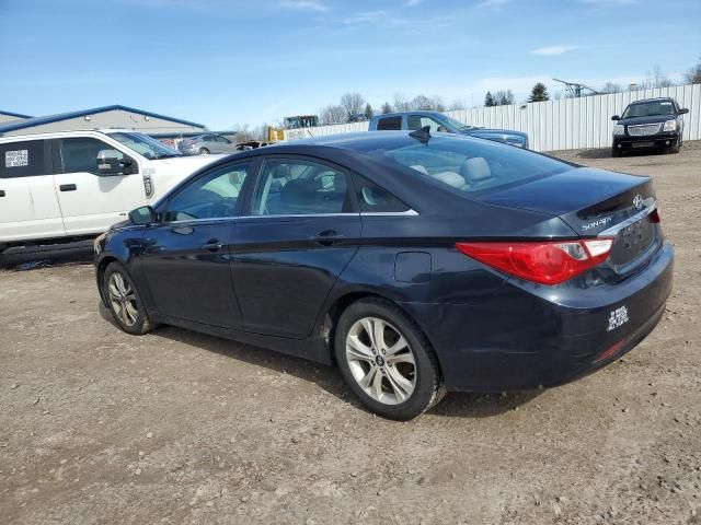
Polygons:
M124 104L228 129L348 91L480 105L551 77L680 80L699 27L699 0L0 0L0 109Z

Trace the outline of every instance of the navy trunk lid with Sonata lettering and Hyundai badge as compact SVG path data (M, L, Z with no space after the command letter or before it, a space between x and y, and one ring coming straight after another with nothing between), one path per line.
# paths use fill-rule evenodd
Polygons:
M628 275L662 242L651 211L655 192L650 177L581 167L481 198L486 202L558 215L577 235L613 238L609 262Z

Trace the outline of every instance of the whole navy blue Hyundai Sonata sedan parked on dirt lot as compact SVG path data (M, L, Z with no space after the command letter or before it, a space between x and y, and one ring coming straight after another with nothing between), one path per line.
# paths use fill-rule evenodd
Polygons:
M123 330L334 364L399 420L605 366L659 320L673 259L648 177L426 128L234 154L95 241Z

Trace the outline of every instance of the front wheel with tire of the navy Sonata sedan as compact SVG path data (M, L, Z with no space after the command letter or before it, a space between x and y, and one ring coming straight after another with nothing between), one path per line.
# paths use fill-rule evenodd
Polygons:
M115 323L127 334L142 336L157 327L149 318L131 277L119 262L111 262L105 269L102 293Z

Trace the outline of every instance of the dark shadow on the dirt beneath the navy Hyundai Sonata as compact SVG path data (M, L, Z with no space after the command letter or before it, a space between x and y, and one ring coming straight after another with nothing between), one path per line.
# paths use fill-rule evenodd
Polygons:
M100 315L119 329L112 318L110 311L99 303ZM344 402L348 402L357 409L368 411L346 387L341 374L335 366L329 366L301 358L285 355L266 348L244 345L228 339L199 334L196 331L162 326L151 332L151 337L158 337L170 341L177 341L191 347L200 348L209 352L216 352L254 366L286 373L323 388ZM499 416L509 410L518 410L518 407L530 402L542 390L516 392L506 394L471 394L451 392L428 413L444 417L461 418L489 418Z

